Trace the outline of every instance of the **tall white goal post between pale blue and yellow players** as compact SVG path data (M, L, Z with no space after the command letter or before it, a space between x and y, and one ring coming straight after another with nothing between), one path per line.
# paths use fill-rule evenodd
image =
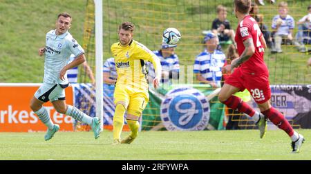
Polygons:
M95 4L95 67L96 67L96 116L100 118L101 130L104 129L103 110L103 27L102 27L102 0L94 0Z

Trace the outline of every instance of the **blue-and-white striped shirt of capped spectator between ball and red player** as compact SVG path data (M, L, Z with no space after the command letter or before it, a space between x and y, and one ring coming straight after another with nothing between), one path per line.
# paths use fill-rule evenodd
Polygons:
M212 53L205 50L198 56L194 62L194 74L200 74L203 78L209 81L214 81L220 86L221 68L225 64L225 54L220 50L215 50Z

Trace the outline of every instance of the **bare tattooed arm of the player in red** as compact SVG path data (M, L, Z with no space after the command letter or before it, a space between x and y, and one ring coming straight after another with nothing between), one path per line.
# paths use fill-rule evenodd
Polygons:
M247 61L254 53L255 53L255 47L254 42L252 38L246 39L243 41L245 50L241 54L239 58L236 58L236 60L232 61L231 69L234 69L235 67L238 67L243 62Z

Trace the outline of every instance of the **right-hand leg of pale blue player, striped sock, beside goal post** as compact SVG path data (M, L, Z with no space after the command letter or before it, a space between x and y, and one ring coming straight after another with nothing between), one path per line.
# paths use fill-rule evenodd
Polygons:
M95 139L100 137L100 119L97 117L90 117L71 105L66 105L65 100L55 100L52 102L56 111L73 117L75 120L84 122L91 126Z

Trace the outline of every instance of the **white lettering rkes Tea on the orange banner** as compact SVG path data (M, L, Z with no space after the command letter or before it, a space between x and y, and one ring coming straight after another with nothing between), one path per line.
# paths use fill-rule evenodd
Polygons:
M72 118L70 116L64 116L64 114L62 113L58 113L57 111L53 110L53 107L45 107L46 110L48 111L48 114L50 116L52 116L51 113L53 113L53 117L52 120L53 122L57 123L57 124L62 124L64 123L72 123ZM26 110L14 110L12 105L8 105L8 109L7 110L0 110L0 123L5 123L6 121L8 121L8 123L10 124L37 124L39 118L37 117L37 115L33 112L30 111L30 113L28 113L28 111Z

